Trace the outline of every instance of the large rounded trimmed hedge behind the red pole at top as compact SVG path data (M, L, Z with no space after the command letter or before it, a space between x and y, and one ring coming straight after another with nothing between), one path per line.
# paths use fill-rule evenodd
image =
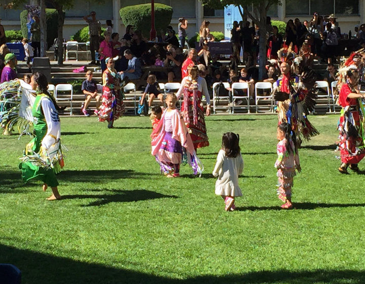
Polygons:
M155 3L155 29L157 34L165 30L172 18L172 7ZM132 25L134 30L139 29L144 37L149 38L151 30L151 4L127 6L119 10L125 26Z

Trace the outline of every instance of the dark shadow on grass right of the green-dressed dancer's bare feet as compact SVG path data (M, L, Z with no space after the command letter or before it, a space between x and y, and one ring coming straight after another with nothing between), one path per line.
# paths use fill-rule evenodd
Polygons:
M98 199L90 202L88 205L83 206L100 206L111 202L133 202L141 200L150 200L158 198L178 198L175 195L164 195L158 192L145 190L145 189L135 189L135 190L118 190L118 189L104 189L95 190L108 191L114 194L75 194L75 195L62 195L62 199Z

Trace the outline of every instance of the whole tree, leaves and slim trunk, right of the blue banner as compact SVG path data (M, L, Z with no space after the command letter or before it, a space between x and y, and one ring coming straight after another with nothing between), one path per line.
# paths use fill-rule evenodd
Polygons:
M203 5L208 5L210 8L223 9L225 6L234 5L238 7L242 20L245 21L246 16L259 26L259 77L263 78L266 64L266 16L267 11L273 5L280 5L280 0L202 0ZM248 7L253 6L252 12ZM264 60L263 60L264 58Z

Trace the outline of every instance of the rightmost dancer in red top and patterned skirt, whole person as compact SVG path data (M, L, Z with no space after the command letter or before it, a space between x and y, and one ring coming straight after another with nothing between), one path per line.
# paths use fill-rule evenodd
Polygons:
M341 173L348 173L347 167L358 172L357 164L365 156L365 148L359 133L363 131L363 115L359 112L361 94L357 89L357 69L350 69L346 73L346 83L342 85L339 96L339 104L343 108L338 130L340 131L339 149L341 150Z

